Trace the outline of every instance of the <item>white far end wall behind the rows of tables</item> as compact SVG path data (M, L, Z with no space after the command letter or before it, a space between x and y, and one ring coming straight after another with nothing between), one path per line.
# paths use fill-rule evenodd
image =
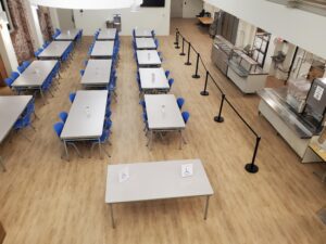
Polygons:
M165 0L164 8L140 8L138 12L130 9L122 10L74 10L77 28L84 29L84 35L93 35L97 28L105 28L105 21L113 20L114 14L122 15L121 35L131 35L133 28L154 29L158 35L170 35L170 4Z

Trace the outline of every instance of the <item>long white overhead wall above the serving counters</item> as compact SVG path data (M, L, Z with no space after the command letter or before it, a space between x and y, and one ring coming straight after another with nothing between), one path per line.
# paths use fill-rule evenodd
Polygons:
M289 9L265 0L205 1L326 59L326 16Z

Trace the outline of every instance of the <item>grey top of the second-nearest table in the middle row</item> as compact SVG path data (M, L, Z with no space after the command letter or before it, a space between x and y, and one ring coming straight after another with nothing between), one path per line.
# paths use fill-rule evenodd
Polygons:
M110 81L112 60L89 60L82 77L84 86L106 86Z

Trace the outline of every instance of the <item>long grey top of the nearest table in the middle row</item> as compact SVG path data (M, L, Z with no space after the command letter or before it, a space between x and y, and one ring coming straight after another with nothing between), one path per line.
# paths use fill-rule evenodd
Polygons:
M77 91L61 139L98 139L102 134L108 100L106 90Z

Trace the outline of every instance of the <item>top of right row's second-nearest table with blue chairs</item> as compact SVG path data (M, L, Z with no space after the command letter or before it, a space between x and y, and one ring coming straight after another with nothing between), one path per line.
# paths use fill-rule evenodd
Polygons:
M141 89L170 89L164 69L159 68L139 68Z

